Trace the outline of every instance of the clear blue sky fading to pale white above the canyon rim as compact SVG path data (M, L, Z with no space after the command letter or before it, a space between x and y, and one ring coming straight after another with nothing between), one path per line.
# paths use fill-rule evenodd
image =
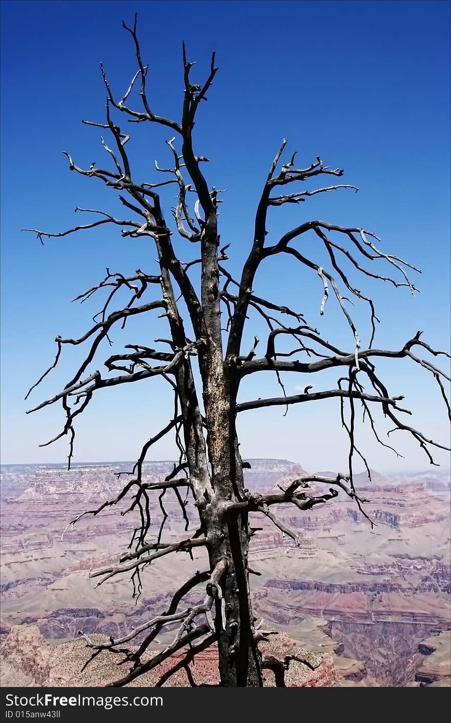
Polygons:
M44 247L33 234L20 232L29 226L70 228L80 221L73 213L77 205L124 215L111 189L69 173L61 151L69 151L82 167L107 163L100 130L80 121L103 121L100 61L118 97L129 85L135 59L121 21L132 22L135 10L158 113L180 117L181 41L189 59L197 61L195 82L205 77L210 51L217 52L219 72L199 113L195 150L211 159L205 166L210 186L228 189L220 231L221 239L231 243L231 272L238 274L249 249L259 193L285 137L289 150L298 149L300 163L309 165L321 155L327 165L344 168L343 183L360 191L320 194L305 204L272 210L271 237L312 218L375 231L385 251L407 257L423 270L416 278L421 294L415 299L405 289L358 281L358 288L377 302L382 323L376 346L399 348L418 329L432 346L450 346L450 4L16 0L3 2L1 10L4 463L66 457L66 439L38 448L59 431L61 407L25 416L30 400L23 398L51 363L55 335L81 335L102 305L100 297L82 307L70 299L100 281L107 265L122 273L155 271L153 249L143 241L124 241L119 229L49 239ZM160 165L169 161L164 144L169 135L146 124L130 128L127 147L134 175L155 181L154 160ZM169 215L171 193L162 201ZM314 241L305 243L312 259L322 262ZM186 244L178 249L183 260L192 257ZM319 317L320 286L314 275L277 260L262 267L254 288L305 312L330 341L352 348L352 335L332 299ZM358 307L355 315L365 344L366 312ZM254 331L264 332L259 320L249 326L246 344ZM133 320L115 337L113 352L100 349L93 369L119 353L124 343L149 343L161 332L153 319ZM64 349L61 366L35 390L32 406L64 386L81 353L80 348ZM406 395L417 426L446 442L447 417L439 393L422 371L408 360L383 367L390 392ZM335 386L336 376L315 378L315 389ZM293 377L297 375L286 380L287 393L312 383ZM241 398L276 393L273 378L259 375L244 386ZM147 436L166 424L170 410L171 397L158 381L99 394L77 420L74 461L135 458ZM291 458L311 471L345 466L346 440L336 401L292 407L285 418L282 414L276 408L242 416L245 457ZM418 445L401 432L397 442L405 460L398 463L374 445L368 432L359 434L375 469L427 466ZM167 440L150 458L173 454ZM437 461L449 466L448 460L447 453L437 453Z

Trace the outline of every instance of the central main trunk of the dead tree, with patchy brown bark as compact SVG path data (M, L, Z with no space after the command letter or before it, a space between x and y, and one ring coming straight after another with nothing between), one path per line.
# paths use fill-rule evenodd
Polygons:
M201 518L208 540L210 568L226 559L223 582L225 625L218 610L220 684L254 688L262 685L261 656L254 640L249 593L248 515L228 513L230 503L242 502L244 480L235 428L236 384L224 364L220 328L217 212L212 205L202 237L202 304L205 348L199 352L207 426L207 452L212 492L202 501ZM217 604L219 602L217 601Z

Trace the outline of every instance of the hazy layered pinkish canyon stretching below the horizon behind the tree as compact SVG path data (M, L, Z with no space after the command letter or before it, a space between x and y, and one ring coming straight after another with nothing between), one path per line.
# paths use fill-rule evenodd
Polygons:
M286 460L256 459L249 465L244 472L252 492L286 487L306 474ZM88 667L88 677L80 678L86 648L78 631L123 634L161 612L181 579L205 568L204 552L194 551L193 560L183 552L171 555L170 562L155 560L136 604L126 578L95 589L89 571L118 559L129 543L133 513L121 516L121 505L113 505L94 518L69 523L113 498L122 486L117 475L130 468L130 463L77 464L71 471L50 464L1 467L4 680L57 685L48 681L67 680L61 660L70 658L72 680L107 683L108 676L114 678L109 659L98 672ZM172 469L171 461L145 463L143 479L163 480ZM278 517L298 534L299 547L264 515L253 515L252 526L260 528L250 548L252 569L259 573L251 577L255 613L265 627L279 631L270 636L279 639L273 646L319 656L316 677L309 667L299 667L287 676L287 685L449 685L450 473L371 471L371 480L356 474L355 483L370 500L364 509L372 527L341 493L313 510L278 508ZM312 483L314 494L320 489L324 485ZM175 497L166 495L164 504L164 539L171 542L184 532L184 520ZM196 510L192 505L187 510L196 529ZM160 527L156 497L150 512L149 537ZM197 602L195 593L191 600ZM164 645L166 638L159 640ZM35 651L31 657L30 651ZM197 684L214 680L214 650L203 654L201 670L204 677ZM271 684L269 677L265 684Z

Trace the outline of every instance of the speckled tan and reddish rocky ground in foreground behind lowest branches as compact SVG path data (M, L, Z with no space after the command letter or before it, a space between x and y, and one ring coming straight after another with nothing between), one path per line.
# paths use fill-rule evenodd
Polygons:
M267 628L267 625L265 625ZM319 643L319 628L313 647L323 646L326 650L313 651L299 646L283 631L277 631L268 642L261 643L264 656L296 656L298 660L289 663L285 672L288 688L334 688L334 687L377 687L377 680L369 675L364 662L349 659L341 654L340 644ZM93 643L105 643L106 636L90 636ZM450 687L450 631L431 636L418 644L412 656L412 680L408 687ZM335 648L334 648L335 646ZM309 648L312 646L309 646ZM124 675L128 668L118 666L118 657L103 652L95 662L83 670L90 657L85 641L78 638L66 643L50 644L44 640L35 625L16 625L4 637L1 644L1 685L2 687L103 687ZM152 657L158 650L152 651ZM184 657L184 651L173 654L163 665L142 675L129 684L130 687L153 687L160 677ZM120 658L119 658L120 659ZM218 685L218 651L215 646L196 656L190 666L195 685ZM163 683L168 687L191 685L184 669ZM275 678L265 670L264 685L273 687Z

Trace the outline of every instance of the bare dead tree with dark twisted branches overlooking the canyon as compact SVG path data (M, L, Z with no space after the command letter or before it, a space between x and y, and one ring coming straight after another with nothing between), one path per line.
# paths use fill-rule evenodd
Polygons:
M270 208L299 204L313 194L338 189L357 190L349 185L327 183L322 187L306 190L306 181L316 179L317 176L340 177L343 171L325 166L320 158L316 158L305 168L298 167L296 153L283 160L286 140L283 140L262 184L262 194L255 215L254 236L249 242L249 255L241 278L233 278L225 266L228 258L226 250L230 244L221 245L218 231L220 191L207 184L202 168L208 159L197 155L193 145L196 114L202 102L207 100L207 92L217 72L215 54L212 54L207 80L203 85L194 85L191 80L193 63L186 58L183 47L184 96L181 121L170 120L155 114L147 95L148 67L143 64L141 57L136 17L133 27L124 24L124 28L134 42L137 72L124 96L116 100L106 72L103 66L100 66L106 87L106 121L82 121L110 134L111 141L108 143L112 147L102 138L110 168L98 168L94 163L90 168L80 168L69 153L65 155L71 171L88 179L100 180L114 192L118 192L119 199L128 212L128 218L116 218L103 210L77 208L77 212L94 215L95 220L60 234L44 233L37 229L25 230L35 231L38 239L43 241L44 236L65 236L103 224L119 226L124 238L146 237L153 240L158 255L158 272L151 275L137 270L134 275L126 276L111 273L107 269L103 281L77 297L80 301L85 301L97 291L106 290L108 294L99 314L94 317L94 325L84 335L76 339L56 337L55 360L36 385L56 366L63 346L87 342L87 354L64 389L30 411L61 401L66 415L64 427L59 435L47 444L64 435L69 437L70 467L75 436L74 421L99 389L134 384L156 375L163 377L173 389L174 408L171 420L164 429L145 442L130 473L131 478L124 484L119 495L104 502L98 509L82 513L97 515L106 506L122 501L127 505L122 514L139 510L141 520L138 529L133 531L129 551L122 555L119 563L97 570L91 576L100 578L100 585L110 578L130 573L134 595L137 595L141 591L142 570L148 568L152 560L179 551L190 553L194 547L205 548L207 569L197 573L176 591L166 612L149 620L132 633L116 640L111 638L111 642L105 645L95 645L86 638L87 644L93 648L91 659L100 650L108 649L121 652L127 661L132 662L130 672L121 677L121 680L116 680L113 685L126 685L167 659L174 651L186 646L186 658L170 672L187 667L198 651L213 643L218 645L221 685L261 686L262 667L277 668L277 680L283 685L285 662L262 660L258 649L258 641L265 637L265 633L255 629L249 593L248 550L249 539L253 534L249 526L249 513L266 515L284 534L291 536L296 544L298 538L295 532L288 529L283 521L272 513L272 505L295 505L301 514L314 505L322 505L332 500L338 495L338 489L341 489L365 515L364 502L367 500L358 495L353 483L354 455L360 455L366 465L364 455L356 447L354 434L358 408L363 410L364 418L368 420L372 432L382 445L390 446L381 440L374 424L371 410L377 406L382 408L383 414L392 423L391 431L408 432L424 450L430 463L434 464L431 448L447 448L406 424L405 416L411 412L399 406L403 397L393 396L389 392L376 365L379 359L405 357L420 364L436 380L438 392L444 398L447 414L451 419L450 403L444 389L444 380L449 380L450 377L431 361L431 356L439 356L445 352L435 351L428 346L422 341L420 332L392 351L373 348L378 322L373 301L353 286L344 270L343 261L349 262L361 275L380 279L395 287L405 286L412 294L415 287L408 278L408 270L416 269L397 256L383 252L379 245L380 239L370 231L358 227L344 228L325 221L304 221L281 238L269 241L267 214ZM130 103L135 86L139 87L138 108ZM142 182L134 177L126 151L129 134L119 126L119 116L130 123L159 124L168 129L171 134L167 141L171 164L169 167L160 168L155 163L156 174L161 174L163 180ZM174 251L171 240L173 231L162 212L160 193L166 186L175 187L178 194L176 208L173 210L173 231L186 240L187 247L197 249L189 262L182 262ZM329 269L306 257L301 247L296 246L296 241L303 239L305 234L313 234L317 243L326 249L330 258ZM309 326L301 313L254 294L254 279L260 265L267 264L276 254L283 254L292 264L298 264L300 269L311 270L318 276L324 289L321 292L322 300L319 301L321 314L325 312L328 297L335 297L351 330L351 348L334 346L326 341L317 329ZM399 278L379 273L379 262L385 263ZM365 264L371 267L371 270L366 268ZM193 275L197 272L199 277L194 281ZM152 294L154 289L158 289L159 293ZM110 311L119 290L129 291L129 301L124 307ZM147 294L150 294L152 300L144 301ZM348 294L349 298L345 294ZM183 308L188 315L186 319L181 317L179 299L183 299ZM364 301L369 307L371 339L368 348L361 348L356 324L348 310L351 299ZM103 340L109 341L108 333L111 328L114 325L124 328L128 317L147 312L157 312L166 317L168 338L155 340L158 343L152 347L127 343L123 354L113 354L105 361L109 373L102 375L99 371L91 372L90 365L95 359L98 347ZM267 325L267 339L260 346L261 356L257 354L257 337L254 338L250 351L242 349L244 328L251 312L260 315ZM223 317L227 321L222 324ZM280 317L283 317L284 321ZM285 346L283 343L279 346L283 340ZM286 350L287 340L291 340L293 346L289 351ZM148 343L147 340L144 342L145 345ZM448 354L446 356L449 357ZM198 364L199 377L194 373L194 361ZM281 379L283 373L298 372L312 375L312 379L317 380L319 372L332 368L337 369L341 375L336 388L312 390L312 385L307 385L303 393L285 394ZM262 371L274 372L280 384L280 395L274 398L238 401L241 380ZM279 492L270 492L267 495L251 494L244 487L244 462L241 460L236 433L237 414L249 409L312 403L328 398L338 398L340 403L341 423L349 437L348 473L332 479L306 476L303 479L293 479L288 487L280 489ZM179 463L165 482L144 482L142 465L147 453L155 442L169 433L175 435L180 453ZM368 469L367 465L366 468ZM309 494L309 482L325 484L327 492L319 496ZM199 514L197 531L174 544L163 542L163 524L158 539L148 539L151 495L159 495L164 523L166 512L163 495L168 490L179 500L186 521L186 502L182 492L191 496ZM184 595L199 585L205 586L204 602L194 608L181 606ZM166 650L143 661L145 651L155 641L159 631L166 625L174 624L177 625L177 631L173 642ZM128 643L142 633L146 633L146 637L139 648L129 649ZM166 673L163 679L166 680L167 677Z

